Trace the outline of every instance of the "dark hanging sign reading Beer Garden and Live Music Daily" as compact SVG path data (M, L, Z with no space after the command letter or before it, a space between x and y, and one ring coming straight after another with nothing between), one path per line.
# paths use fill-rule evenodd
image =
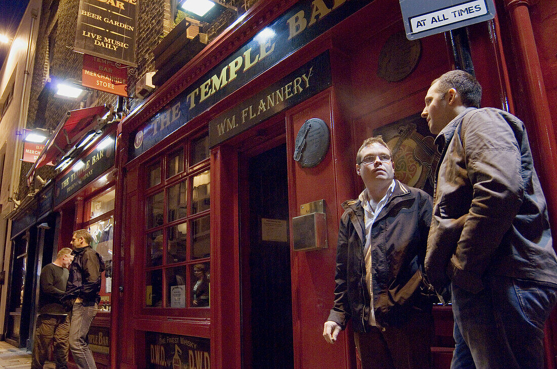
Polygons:
M74 51L136 67L137 0L80 0Z

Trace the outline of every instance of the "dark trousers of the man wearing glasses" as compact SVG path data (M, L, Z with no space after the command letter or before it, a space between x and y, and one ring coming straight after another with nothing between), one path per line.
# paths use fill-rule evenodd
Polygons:
M365 333L354 332L362 369L431 368L431 313L416 310L400 327L368 328Z

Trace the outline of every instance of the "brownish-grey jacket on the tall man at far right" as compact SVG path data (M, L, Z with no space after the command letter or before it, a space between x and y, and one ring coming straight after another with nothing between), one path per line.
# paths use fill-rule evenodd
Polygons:
M467 108L436 138L426 273L471 293L486 275L557 283L548 210L524 123L495 108ZM550 153L542 153L549 155Z

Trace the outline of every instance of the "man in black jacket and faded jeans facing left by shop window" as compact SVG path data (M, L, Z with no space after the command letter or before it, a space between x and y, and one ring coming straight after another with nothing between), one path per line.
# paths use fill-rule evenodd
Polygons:
M91 348L86 337L92 321L97 314L100 302L101 273L105 269L102 257L90 245L91 234L78 230L72 236L71 245L74 261L70 266L70 276L62 301L71 306L70 350L79 368L96 368Z

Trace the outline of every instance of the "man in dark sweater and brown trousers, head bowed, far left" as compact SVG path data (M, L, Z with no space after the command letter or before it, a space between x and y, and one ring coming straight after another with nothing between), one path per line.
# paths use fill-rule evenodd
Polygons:
M38 295L37 328L33 342L31 369L42 369L48 358L48 346L53 342L56 369L67 369L68 335L70 321L62 306L61 298L68 280L68 268L74 256L71 248L58 251L56 260L41 269L40 292Z

